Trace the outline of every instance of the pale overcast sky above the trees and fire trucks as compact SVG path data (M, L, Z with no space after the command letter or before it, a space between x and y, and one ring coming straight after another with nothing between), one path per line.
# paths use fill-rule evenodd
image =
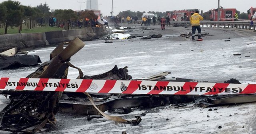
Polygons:
M6 0L0 0L3 2ZM35 7L40 3L48 4L51 9L72 9L80 10L80 3L86 0L18 0L22 5ZM109 16L111 12L112 0L98 0L98 7L104 16ZM113 15L120 11L159 11L166 12L172 10L198 8L204 12L217 8L218 0L114 0ZM256 7L255 0L220 0L220 6L224 8L236 8L240 12L247 12L250 7ZM82 3L82 9L86 8L86 3Z

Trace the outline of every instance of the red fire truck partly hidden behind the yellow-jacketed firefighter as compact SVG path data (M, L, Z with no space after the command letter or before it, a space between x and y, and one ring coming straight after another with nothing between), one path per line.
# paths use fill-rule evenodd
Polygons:
M186 9L171 11L168 13L171 21L190 21L190 16L192 16L198 9ZM199 10L198 10L199 11ZM183 16L183 20L182 20Z

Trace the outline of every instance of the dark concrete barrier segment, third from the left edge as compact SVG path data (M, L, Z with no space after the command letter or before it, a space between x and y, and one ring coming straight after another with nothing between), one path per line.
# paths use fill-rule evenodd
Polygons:
M64 42L62 31L45 32L45 36L50 45Z

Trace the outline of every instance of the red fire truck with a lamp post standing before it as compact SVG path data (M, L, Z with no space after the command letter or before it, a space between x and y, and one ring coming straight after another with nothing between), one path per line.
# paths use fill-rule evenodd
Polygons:
M220 8L220 21L235 21L236 8ZM218 21L218 9L210 10L211 21Z

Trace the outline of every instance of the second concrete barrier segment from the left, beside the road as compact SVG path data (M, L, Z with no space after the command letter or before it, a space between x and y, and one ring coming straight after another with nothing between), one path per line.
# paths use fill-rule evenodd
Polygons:
M26 48L44 47L46 45L44 33L22 33L21 38Z

